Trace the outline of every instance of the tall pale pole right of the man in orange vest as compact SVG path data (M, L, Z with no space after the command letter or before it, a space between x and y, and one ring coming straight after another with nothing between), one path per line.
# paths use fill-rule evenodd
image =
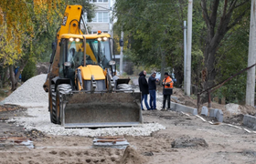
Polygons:
M186 89L185 94L190 96L191 87L191 49L192 49L192 10L193 0L188 0L187 9L187 57L186 57Z

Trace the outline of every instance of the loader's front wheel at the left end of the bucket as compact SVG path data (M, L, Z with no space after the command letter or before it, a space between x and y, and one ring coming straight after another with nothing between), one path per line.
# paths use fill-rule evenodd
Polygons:
M68 84L61 84L57 87L55 92L55 99L52 101L52 116L55 124L61 124L60 110L63 108L62 97L64 94L69 94L72 91L72 87Z

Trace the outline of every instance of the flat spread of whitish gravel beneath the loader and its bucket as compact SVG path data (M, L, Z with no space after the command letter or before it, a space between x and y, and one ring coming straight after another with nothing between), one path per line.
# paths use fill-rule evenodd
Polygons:
M27 130L37 129L48 135L65 135L65 136L150 136L154 131L165 129L164 126L157 123L144 124L141 127L132 128L63 128L59 125L52 124L49 120L48 108L28 108L27 114L31 118L11 118L8 121L15 121L17 125L22 125Z

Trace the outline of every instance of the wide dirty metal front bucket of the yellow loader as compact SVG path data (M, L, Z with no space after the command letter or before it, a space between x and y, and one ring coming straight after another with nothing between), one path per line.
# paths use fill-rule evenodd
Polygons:
M65 128L127 127L143 124L141 93L64 95L61 124Z

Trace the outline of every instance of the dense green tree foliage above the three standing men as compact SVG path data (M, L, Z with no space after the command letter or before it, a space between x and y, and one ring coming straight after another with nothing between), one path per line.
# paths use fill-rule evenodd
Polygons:
M119 29L123 26L125 35L129 36L129 57L134 64L161 68L162 74L165 67L173 67L177 74L182 74L183 6L180 5L178 1L168 0L116 1L115 26Z

